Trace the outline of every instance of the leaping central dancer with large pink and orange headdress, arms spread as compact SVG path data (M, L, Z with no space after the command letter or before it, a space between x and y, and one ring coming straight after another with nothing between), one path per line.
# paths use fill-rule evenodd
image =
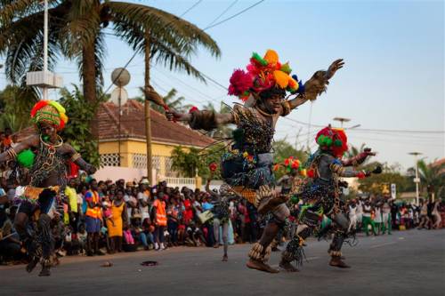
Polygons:
M285 204L287 196L275 192L272 172L271 146L279 116L287 116L307 100L315 100L326 91L328 80L343 65L343 60L336 60L328 70L315 72L303 84L296 76L290 76L291 68L288 63L279 62L277 52L269 50L263 57L254 53L247 71L235 70L230 80L229 94L238 96L245 102L244 106L236 105L228 114L197 109L188 114L166 113L168 119L186 121L196 130L210 131L218 125L237 125L233 144L222 159L223 180L254 204L260 214L272 212L274 217L249 252L248 268L278 272L266 262L271 241L289 214ZM286 100L287 92L295 94L295 98Z

